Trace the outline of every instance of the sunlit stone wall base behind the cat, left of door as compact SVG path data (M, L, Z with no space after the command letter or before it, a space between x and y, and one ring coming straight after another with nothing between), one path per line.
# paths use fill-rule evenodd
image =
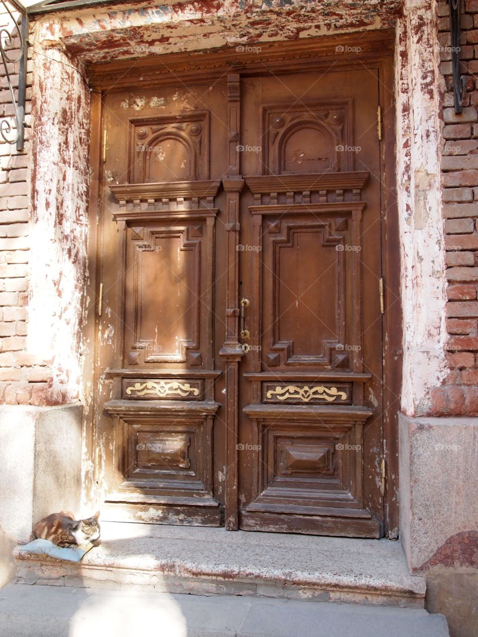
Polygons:
M0 527L27 541L49 513L80 503L82 405L0 405Z

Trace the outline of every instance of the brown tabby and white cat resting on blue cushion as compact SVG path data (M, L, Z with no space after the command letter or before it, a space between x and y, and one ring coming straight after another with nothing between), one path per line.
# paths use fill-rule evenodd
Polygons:
M76 547L99 538L99 511L84 520L75 520L73 513L51 513L33 527L33 537L50 540L57 547Z

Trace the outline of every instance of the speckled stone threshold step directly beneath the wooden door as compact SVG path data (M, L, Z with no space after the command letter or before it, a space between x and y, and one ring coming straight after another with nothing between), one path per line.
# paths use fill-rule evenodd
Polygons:
M424 608L400 543L103 522L80 564L15 548L17 583Z

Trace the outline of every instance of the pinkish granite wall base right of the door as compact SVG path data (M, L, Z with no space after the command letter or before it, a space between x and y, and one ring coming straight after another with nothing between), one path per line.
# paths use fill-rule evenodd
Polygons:
M478 626L478 419L399 416L400 539L451 637Z

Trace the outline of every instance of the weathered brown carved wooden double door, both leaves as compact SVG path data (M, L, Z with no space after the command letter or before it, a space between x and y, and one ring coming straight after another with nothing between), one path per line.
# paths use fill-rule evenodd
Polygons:
M105 96L103 519L382 533L378 105L365 67Z

